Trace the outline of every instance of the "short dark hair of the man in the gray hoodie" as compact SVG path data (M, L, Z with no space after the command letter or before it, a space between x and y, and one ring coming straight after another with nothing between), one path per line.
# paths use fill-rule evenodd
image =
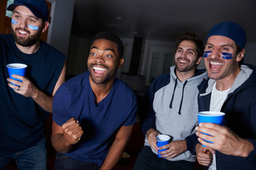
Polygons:
M176 50L178 49L178 45L183 41L183 40L190 40L196 43L196 52L198 53L198 57L203 57L203 51L204 51L204 45L203 41L200 40L195 33L184 33L181 35L181 37L177 38L176 40Z

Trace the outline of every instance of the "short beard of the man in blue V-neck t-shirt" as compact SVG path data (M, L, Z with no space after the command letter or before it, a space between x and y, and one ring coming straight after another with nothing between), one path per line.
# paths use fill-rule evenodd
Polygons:
M92 81L95 83L95 84L105 84L107 83L108 81L110 81L111 79L113 79L113 77L115 77L115 74L117 72L117 69L112 69L110 71L107 71L107 74L105 75L105 77L101 77L101 78L97 78L97 77L94 77L93 73L92 73L92 67L93 66L102 66L102 67L105 67L107 70L110 70L109 67L103 65L103 64L90 64L90 66L88 67L88 71L90 73L90 77L92 78Z

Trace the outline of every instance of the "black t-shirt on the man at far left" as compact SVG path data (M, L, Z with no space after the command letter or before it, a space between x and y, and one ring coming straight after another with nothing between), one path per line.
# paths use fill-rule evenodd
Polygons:
M27 64L26 77L50 96L64 62L65 55L46 42L40 41L38 51L28 55L18 50L11 34L0 35L0 154L18 152L40 142L49 115L32 98L16 94L8 86L6 64Z

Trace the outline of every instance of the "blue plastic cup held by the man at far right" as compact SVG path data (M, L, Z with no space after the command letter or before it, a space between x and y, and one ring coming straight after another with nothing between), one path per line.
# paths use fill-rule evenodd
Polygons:
M198 122L199 123L215 123L218 125L223 125L225 113L223 112L215 112L215 111L202 111L198 112ZM208 135L207 133L203 133ZM210 142L205 140L206 142ZM210 142L213 143L213 142ZM203 147L206 147L203 145Z

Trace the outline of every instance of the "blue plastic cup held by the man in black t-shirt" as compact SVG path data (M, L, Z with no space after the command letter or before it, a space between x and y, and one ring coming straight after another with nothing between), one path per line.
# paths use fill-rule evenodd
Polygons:
M11 77L11 75L16 74L16 75L20 75L20 76L25 76L27 65L26 64L21 64L21 63L11 63L11 64L7 64L6 67L7 67L7 70L9 72L9 77L11 79L21 81L21 79L16 79L14 77ZM14 84L14 85L18 86L16 84Z

